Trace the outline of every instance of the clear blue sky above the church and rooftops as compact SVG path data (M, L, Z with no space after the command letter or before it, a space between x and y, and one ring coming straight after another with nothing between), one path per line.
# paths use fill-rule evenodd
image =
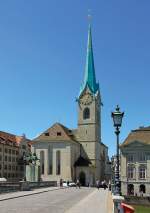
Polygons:
M91 9L102 108L102 141L110 156L110 117L125 111L122 142L150 125L150 1L0 1L0 130L33 138L55 122L77 126L77 103Z

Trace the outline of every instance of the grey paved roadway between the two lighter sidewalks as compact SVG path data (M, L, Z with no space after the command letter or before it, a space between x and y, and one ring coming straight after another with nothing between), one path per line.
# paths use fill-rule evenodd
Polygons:
M94 190L66 188L0 201L0 213L64 213Z

